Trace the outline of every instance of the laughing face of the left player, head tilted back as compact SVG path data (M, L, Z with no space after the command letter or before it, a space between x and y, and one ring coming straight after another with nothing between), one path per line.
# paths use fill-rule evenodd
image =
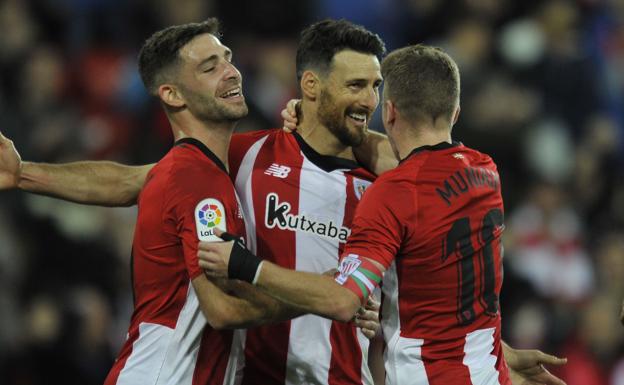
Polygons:
M236 121L247 115L242 77L232 51L212 34L195 37L180 49L175 85L199 120Z

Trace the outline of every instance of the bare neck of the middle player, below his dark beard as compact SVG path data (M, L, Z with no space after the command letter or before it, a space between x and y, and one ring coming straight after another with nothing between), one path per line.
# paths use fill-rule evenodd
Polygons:
M321 155L355 160L353 148L344 145L329 128L318 120L316 105L304 101L301 104L301 112L297 132L310 147Z

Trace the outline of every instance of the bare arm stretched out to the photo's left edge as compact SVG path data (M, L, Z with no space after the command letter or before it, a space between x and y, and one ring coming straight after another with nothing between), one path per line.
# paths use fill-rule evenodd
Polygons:
M0 134L0 190L20 188L78 203L130 206L152 167L106 161L23 162L13 142Z

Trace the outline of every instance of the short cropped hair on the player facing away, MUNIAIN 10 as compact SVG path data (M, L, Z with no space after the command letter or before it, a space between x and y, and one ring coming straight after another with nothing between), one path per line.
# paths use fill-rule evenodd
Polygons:
M407 119L452 118L459 100L457 64L439 48L422 44L392 51L381 63L384 97Z

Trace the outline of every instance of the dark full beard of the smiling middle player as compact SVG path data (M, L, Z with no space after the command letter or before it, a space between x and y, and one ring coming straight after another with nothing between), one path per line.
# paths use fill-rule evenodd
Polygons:
M355 112L350 108L342 109L337 105L331 93L321 90L319 97L318 119L331 131L340 143L345 146L357 147L362 144L366 133L366 126L362 129L349 129L347 126L347 114ZM361 111L357 111L361 112ZM366 114L368 116L368 113Z

